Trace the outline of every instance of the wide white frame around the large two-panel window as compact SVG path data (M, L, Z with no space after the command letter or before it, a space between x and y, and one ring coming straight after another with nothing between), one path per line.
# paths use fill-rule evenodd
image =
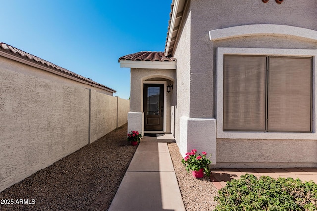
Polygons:
M223 131L223 56L224 55L263 55L263 56L285 56L285 57L313 57L312 64L312 132L249 132L249 131ZM216 120L217 138L229 139L317 139L315 107L317 104L315 70L317 69L317 50L307 49L270 49L270 48L222 48L217 49L216 63Z

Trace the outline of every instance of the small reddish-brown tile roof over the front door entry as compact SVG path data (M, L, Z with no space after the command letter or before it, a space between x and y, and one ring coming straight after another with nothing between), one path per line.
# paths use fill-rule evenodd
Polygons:
M172 56L165 56L164 52L156 51L141 51L138 53L132 53L126 56L119 58L121 60L130 60L130 61L160 61L160 62L170 62L176 61Z

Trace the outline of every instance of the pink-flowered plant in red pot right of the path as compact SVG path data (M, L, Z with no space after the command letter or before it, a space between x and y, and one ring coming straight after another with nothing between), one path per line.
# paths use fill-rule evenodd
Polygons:
M196 153L197 150L193 149L191 152L187 152L186 157L182 159L182 163L186 167L187 172L192 170L192 174L196 178L204 177L204 173L209 176L210 169L208 164L211 164L211 161L209 160L211 155L209 158L206 158L206 152L202 152L202 155L196 155Z

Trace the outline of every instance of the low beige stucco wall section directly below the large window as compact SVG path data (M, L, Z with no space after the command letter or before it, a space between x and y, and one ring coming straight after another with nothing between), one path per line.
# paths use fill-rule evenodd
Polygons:
M217 139L220 168L317 167L317 140Z

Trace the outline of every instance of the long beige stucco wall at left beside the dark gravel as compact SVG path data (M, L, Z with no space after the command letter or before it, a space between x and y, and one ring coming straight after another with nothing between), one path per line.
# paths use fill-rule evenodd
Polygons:
M0 191L114 129L108 94L0 57Z

